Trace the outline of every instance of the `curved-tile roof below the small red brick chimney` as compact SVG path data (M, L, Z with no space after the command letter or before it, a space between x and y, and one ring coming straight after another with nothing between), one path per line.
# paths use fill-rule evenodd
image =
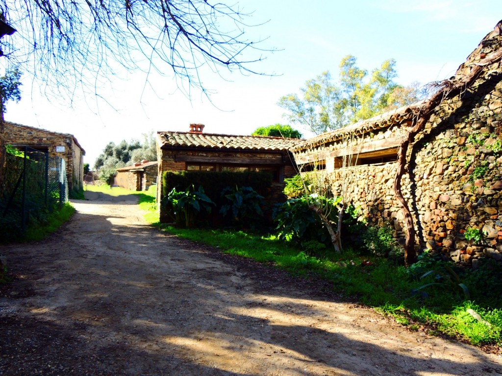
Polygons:
M266 136L238 136L229 134L158 132L161 147L227 149L227 150L268 150L285 151L304 140Z

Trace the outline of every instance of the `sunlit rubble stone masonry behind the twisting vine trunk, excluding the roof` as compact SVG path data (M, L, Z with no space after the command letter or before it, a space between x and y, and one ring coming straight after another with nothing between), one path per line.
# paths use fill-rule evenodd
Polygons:
M402 181L414 214L417 248L473 266L482 257L502 261L502 67L500 61L483 65L486 56L501 48L502 34L495 30L460 66L457 78L474 65L484 69L471 87L436 107L409 150L410 173ZM332 143L317 152L329 157L339 147ZM348 200L362 209L368 224L393 226L403 243L404 222L393 190L396 163L347 171ZM335 193L340 192L341 173L331 172ZM469 239L472 234L481 239Z

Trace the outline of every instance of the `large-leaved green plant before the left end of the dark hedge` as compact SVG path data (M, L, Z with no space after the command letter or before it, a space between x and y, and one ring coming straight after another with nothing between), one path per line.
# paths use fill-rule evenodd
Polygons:
M206 196L202 185L197 191L192 185L185 191L176 191L176 188L173 188L162 200L162 205L169 207L168 213L177 226L191 228L195 225L197 215L201 211L210 213L215 204Z

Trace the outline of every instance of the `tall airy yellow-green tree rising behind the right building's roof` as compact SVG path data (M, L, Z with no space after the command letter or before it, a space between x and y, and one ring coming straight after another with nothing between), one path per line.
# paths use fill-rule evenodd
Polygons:
M340 62L339 82L333 83L328 71L308 80L300 88L302 96L288 94L278 105L287 110L284 116L292 123L321 134L358 120L415 103L424 97L418 83L397 84L396 61L386 60L371 72L360 69L354 56Z

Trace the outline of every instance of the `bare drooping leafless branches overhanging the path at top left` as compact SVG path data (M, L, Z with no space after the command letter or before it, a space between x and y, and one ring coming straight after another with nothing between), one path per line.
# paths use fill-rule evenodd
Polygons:
M253 63L271 50L247 39L258 26L246 23L250 16L211 0L0 0L0 18L17 29L0 47L53 93L99 93L125 68L174 76L187 95L194 87L207 94L206 68L260 74Z

